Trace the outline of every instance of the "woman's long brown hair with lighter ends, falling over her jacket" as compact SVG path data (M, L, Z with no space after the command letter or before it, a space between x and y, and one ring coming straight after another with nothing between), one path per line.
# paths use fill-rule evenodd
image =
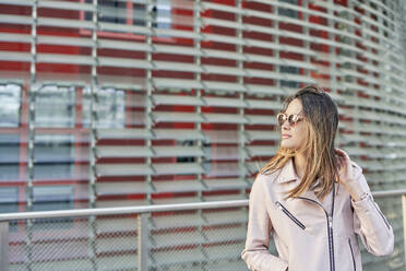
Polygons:
M338 176L334 150L338 127L337 106L322 89L310 85L288 96L284 102L283 111L296 98L301 102L303 108L306 143L298 150L287 150L279 145L276 155L260 173L266 174L280 169L296 154L306 153L308 163L303 178L297 187L288 191L287 198L299 197L307 189L312 189L319 199L324 199L332 191Z

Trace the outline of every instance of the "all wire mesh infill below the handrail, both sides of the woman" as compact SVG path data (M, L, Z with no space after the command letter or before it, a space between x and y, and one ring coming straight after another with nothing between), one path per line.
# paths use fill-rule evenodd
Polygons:
M404 270L402 201L399 197L377 201L394 228L395 249L391 256L381 258L370 255L361 245L363 268ZM207 202L194 203L199 207L182 211L159 210L155 205L151 207L155 211L142 214L145 224L140 223L141 215L134 211L120 215L13 220L9 225L9 270L247 271L240 258L247 233L247 201L234 202L227 208L222 208L226 202L212 202L217 204L215 209L213 205L204 209ZM270 249L276 254L274 244L270 244ZM144 269L140 268L142 259Z

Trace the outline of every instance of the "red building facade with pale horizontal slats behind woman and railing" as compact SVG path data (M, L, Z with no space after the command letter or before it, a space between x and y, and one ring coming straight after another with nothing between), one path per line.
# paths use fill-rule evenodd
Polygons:
M248 199L286 95L339 107L373 191L406 188L404 0L0 0L0 212ZM401 197L378 200L405 270ZM148 217L148 270L247 270L243 208ZM138 270L134 215L14 221L10 270ZM274 248L272 248L274 249Z

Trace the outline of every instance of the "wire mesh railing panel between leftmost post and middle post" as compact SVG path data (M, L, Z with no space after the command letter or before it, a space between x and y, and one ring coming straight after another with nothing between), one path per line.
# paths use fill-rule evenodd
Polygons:
M134 215L12 222L10 270L138 270Z

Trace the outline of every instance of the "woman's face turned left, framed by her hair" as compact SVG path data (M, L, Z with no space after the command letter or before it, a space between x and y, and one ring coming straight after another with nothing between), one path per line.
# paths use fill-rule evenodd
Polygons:
M303 113L301 102L297 98L291 101L286 108L285 111L286 116L289 117L290 115L299 115L299 120L290 125L288 120L286 120L280 127L280 146L289 150L297 150L304 144L304 121L303 121Z

